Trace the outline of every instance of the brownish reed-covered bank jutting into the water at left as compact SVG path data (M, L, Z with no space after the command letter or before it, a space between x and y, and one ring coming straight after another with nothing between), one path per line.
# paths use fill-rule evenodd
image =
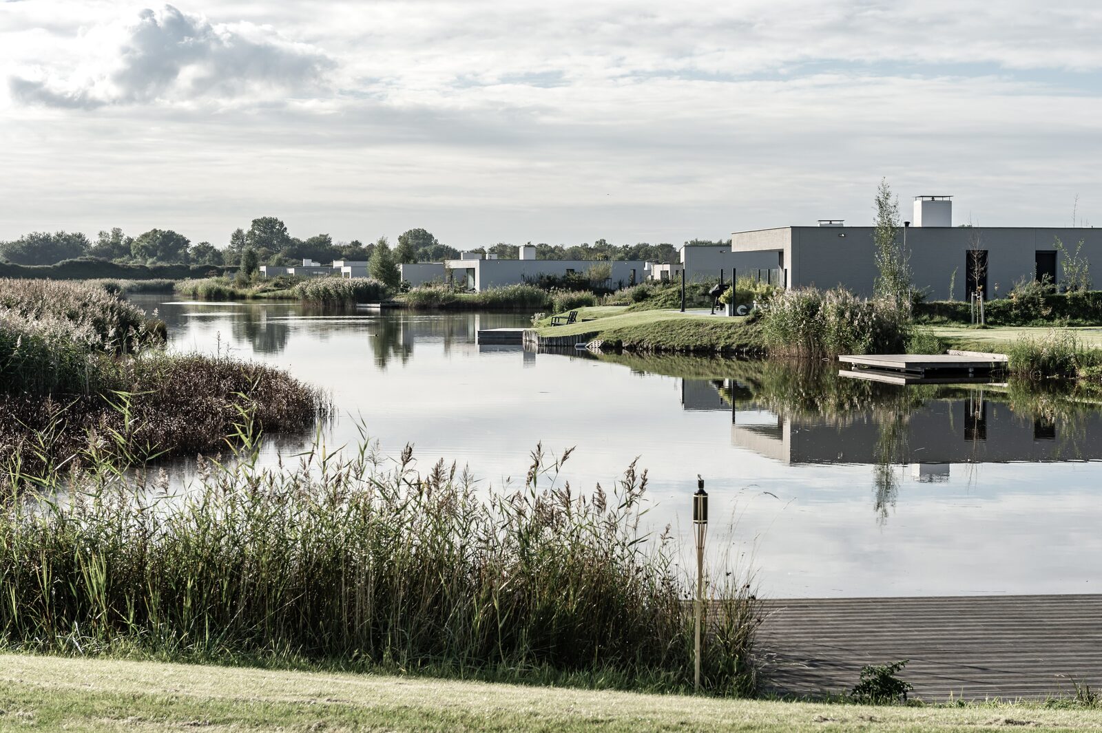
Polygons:
M327 411L283 372L165 354L163 340L163 322L101 284L0 281L0 464L218 451L242 411L270 431L310 429Z

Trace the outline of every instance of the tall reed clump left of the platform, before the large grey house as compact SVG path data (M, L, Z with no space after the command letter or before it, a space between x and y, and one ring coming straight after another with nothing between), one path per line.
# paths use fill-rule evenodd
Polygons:
M765 304L761 331L770 352L778 354L899 353L910 337L910 310L896 303L842 288L781 291Z

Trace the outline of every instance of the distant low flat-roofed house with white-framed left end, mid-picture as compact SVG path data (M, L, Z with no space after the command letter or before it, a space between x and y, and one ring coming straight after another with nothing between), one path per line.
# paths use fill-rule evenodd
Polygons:
M487 287L516 285L542 276L563 277L570 274L585 274L594 265L609 265L612 274L608 286L627 287L641 283L649 273L650 264L642 260L537 260L536 248L526 244L520 248L519 260L499 260L495 255L483 258L477 252L464 252L458 260L444 262L419 262L401 266L402 280L410 285L426 283L458 283L472 291Z

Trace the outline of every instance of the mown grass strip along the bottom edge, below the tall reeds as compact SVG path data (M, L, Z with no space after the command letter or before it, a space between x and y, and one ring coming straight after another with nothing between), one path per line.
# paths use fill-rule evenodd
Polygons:
M1102 710L719 700L378 675L0 656L0 731L1046 731Z

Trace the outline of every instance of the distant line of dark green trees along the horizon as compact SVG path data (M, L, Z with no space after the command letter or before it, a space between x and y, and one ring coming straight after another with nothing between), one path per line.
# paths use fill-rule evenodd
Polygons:
M531 242L528 242L531 244ZM690 240L695 244L727 244L724 241ZM441 243L424 229L410 229L398 237L391 249L386 237L364 244L359 240L335 242L329 234L315 234L306 239L292 237L287 225L277 217L253 219L248 229L236 229L225 247L210 242L192 242L171 229L150 229L137 237L127 236L118 227L100 231L95 241L82 232L36 231L19 239L0 242L0 260L22 265L52 265L65 260L96 258L120 264L190 264L228 265L255 271L261 264L291 266L302 260L332 262L334 260L370 261L376 250L385 249L382 259L395 264L413 262L441 262L460 258L460 250ZM501 260L519 258L519 245L498 242L475 248L474 252L496 254ZM380 254L382 254L380 252ZM678 248L673 244L609 244L598 239L593 244L575 245L536 244L539 260L645 260L676 262Z

